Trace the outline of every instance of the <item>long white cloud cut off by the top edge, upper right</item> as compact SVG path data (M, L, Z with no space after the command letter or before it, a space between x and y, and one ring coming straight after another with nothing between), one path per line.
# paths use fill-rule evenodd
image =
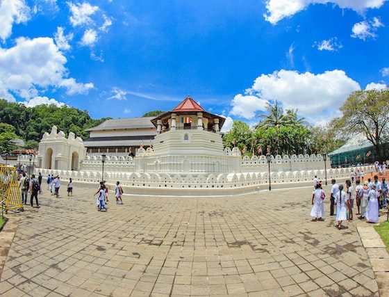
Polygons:
M349 8L363 13L368 8L380 8L386 0L267 0L267 13L264 15L267 22L275 25L285 17L291 17L311 4L333 3L340 8Z

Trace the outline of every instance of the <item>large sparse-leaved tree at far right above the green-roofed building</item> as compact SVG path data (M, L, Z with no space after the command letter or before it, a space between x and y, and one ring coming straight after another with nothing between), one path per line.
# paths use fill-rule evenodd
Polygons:
M389 89L355 91L340 111L343 115L336 121L340 131L347 136L363 133L381 159L381 145L389 138Z

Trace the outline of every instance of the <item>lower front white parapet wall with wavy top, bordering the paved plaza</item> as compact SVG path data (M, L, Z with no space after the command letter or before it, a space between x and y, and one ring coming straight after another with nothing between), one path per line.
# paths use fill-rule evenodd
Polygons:
M374 170L374 166L358 168L365 172ZM72 177L74 182L95 184L101 181L101 171L69 171L36 169L46 177L49 174L60 175L61 179ZM346 179L351 168L331 168L327 170L327 179ZM290 184L290 186L307 184L313 177L324 181L324 170L297 170L271 172L272 184ZM104 172L104 179L110 185L119 181L126 189L126 194L135 195L236 195L251 193L269 182L268 172L221 173L219 175L169 175L167 173L139 172Z

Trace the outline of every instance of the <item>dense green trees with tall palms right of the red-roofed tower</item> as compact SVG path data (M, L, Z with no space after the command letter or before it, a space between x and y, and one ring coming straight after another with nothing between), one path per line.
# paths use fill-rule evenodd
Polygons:
M318 154L331 152L344 141L336 138L333 125L310 127L297 110L283 110L275 102L267 104L267 113L260 115L260 122L250 129L245 122L234 121L233 127L224 135L225 146L237 146L247 155L266 154Z

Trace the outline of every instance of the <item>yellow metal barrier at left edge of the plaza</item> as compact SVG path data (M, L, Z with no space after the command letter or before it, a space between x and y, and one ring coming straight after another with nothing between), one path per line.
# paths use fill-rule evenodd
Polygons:
M24 210L14 167L0 165L0 202L6 213L9 209Z

